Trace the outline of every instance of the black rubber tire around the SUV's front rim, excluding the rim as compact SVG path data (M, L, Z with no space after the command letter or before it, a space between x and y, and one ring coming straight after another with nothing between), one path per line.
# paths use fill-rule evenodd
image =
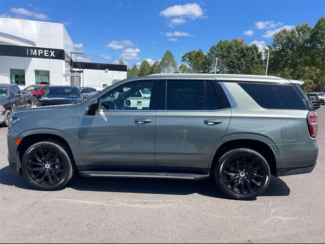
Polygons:
M64 162L64 172L63 172L61 179L58 182L56 182L55 184L50 185L50 186L43 186L43 185L38 184L37 182L35 182L34 180L31 179L31 177L27 171L27 160L28 160L29 156L32 153L34 153L36 150L41 149L41 148L55 150L56 153L58 154L58 156L60 156L62 161ZM57 190L68 183L66 181L70 180L69 179L70 165L71 165L71 160L69 158L69 155L66 152L66 150L64 150L61 146L59 146L55 143L52 143L52 142L39 142L39 143L36 143L36 144L30 146L27 149L26 153L24 154L23 159L22 159L22 172L23 172L24 177L26 178L26 180L28 181L28 183L31 186L35 187L38 190L51 191L51 190Z

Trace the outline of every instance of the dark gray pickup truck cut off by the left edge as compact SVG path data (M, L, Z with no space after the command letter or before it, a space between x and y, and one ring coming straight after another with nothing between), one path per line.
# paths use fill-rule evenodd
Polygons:
M31 106L30 93L22 94L18 85L0 84L0 125L8 127L9 117L13 112Z

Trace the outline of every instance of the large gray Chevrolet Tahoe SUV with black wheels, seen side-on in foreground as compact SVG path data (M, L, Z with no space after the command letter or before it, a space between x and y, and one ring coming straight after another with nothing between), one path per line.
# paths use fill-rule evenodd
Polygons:
M315 167L317 114L301 84L213 74L125 79L80 104L13 113L9 164L39 190L62 188L78 171L211 177L229 197L254 199L271 175ZM148 96L139 96L142 90Z

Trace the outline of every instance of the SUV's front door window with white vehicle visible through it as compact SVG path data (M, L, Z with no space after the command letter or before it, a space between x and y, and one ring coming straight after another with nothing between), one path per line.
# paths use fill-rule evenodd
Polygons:
M138 81L122 85L102 98L102 110L149 110L151 93L142 96L141 90L152 90L153 81Z

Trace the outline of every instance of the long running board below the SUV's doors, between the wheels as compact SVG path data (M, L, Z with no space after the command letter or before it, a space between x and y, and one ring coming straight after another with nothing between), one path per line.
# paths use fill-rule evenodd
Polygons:
M160 179L206 179L208 174L181 174L157 172L117 172L117 171L79 171L85 177L114 177L114 178L160 178Z

